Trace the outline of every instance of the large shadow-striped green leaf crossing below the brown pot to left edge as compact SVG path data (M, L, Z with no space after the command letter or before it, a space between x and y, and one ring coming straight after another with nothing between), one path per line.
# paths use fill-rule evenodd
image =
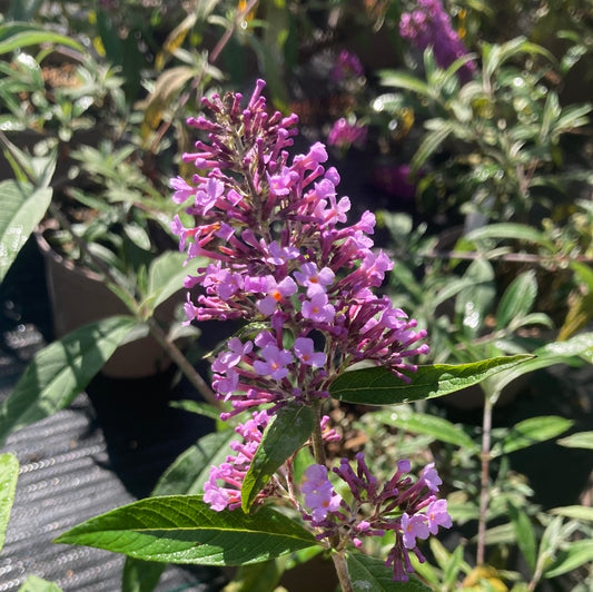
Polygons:
M39 351L0 405L0 441L66 407L136 325L129 316L86 325Z

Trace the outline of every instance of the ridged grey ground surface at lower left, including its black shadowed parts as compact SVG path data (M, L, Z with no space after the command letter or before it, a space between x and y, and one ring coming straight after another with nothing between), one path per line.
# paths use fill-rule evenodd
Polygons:
M0 288L0 399L49 330L40 265L33 251L24 255ZM120 590L122 556L51 541L86 519L148 495L170 462L210 428L204 418L168 405L165 378L99 378L89 393L12 434L2 447L21 467L0 553L0 592L18 590L29 574L66 592ZM217 570L170 566L157 590L214 592L221 584Z

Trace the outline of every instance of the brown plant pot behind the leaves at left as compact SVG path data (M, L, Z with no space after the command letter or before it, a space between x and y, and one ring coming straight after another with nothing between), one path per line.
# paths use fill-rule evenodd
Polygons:
M56 338L95 320L130 314L101 276L58 254L43 231L38 230L36 238L43 257ZM180 294L176 294L162 303L156 309L156 319L160 323L171 320L180 300ZM141 378L156 375L170 364L169 356L149 335L119 346L101 373L111 378Z

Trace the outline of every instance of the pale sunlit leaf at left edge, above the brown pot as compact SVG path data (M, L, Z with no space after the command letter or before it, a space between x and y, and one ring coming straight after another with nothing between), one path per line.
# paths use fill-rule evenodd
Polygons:
M0 283L17 258L34 227L41 221L49 204L51 189L34 189L14 180L0 182Z

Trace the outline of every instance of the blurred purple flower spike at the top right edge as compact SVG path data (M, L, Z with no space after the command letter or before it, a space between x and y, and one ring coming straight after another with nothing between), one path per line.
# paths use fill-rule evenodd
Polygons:
M441 68L448 68L457 58L468 53L441 0L417 0L416 10L402 14L399 34L421 51L432 47ZM470 60L457 70L457 76L462 82L468 82L476 69L475 61Z

